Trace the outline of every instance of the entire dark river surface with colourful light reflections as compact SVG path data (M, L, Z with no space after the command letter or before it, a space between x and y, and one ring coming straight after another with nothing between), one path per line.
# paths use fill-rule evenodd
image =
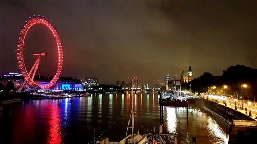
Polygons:
M93 143L103 136L119 141L126 135L132 98L135 132L159 133L158 93L105 93L2 107L0 138L4 143ZM188 121L185 108L164 107L164 131L177 133L178 143L192 143L192 137L197 143L228 143L229 138L228 126L198 107L189 108Z

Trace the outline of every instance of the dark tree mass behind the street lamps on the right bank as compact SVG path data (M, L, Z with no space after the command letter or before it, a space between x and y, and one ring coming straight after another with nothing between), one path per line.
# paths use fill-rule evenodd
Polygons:
M247 89L244 90L249 97L253 100L254 96L257 98L257 69L251 69L244 65L230 66L227 70L223 71L222 76L213 76L209 72L204 72L198 78L193 79L190 83L183 83L181 86L184 89L188 89L188 85L191 84L192 92L205 93L210 90L211 87L216 86L215 93L236 96L236 93L242 91L242 85L247 84ZM223 86L228 87L223 89Z

